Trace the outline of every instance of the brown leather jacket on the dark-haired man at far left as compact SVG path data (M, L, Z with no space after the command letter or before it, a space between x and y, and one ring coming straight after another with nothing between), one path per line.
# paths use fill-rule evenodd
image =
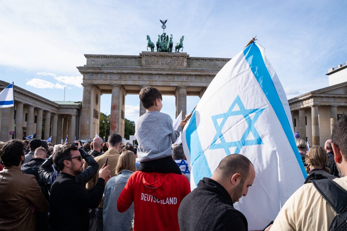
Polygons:
M5 167L0 172L0 230L34 231L37 212L48 210L34 175L24 174L19 167Z

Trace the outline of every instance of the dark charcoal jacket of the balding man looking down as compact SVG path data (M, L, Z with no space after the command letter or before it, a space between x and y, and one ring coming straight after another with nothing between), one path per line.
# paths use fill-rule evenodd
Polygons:
M206 177L182 200L178 223L181 231L248 230L246 217L234 208L227 190Z

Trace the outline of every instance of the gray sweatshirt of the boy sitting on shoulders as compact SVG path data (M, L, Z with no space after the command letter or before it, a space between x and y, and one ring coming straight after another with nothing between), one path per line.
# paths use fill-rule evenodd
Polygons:
M182 131L172 127L168 114L158 111L146 112L135 122L135 137L138 142L137 157L140 162L172 156L171 145Z

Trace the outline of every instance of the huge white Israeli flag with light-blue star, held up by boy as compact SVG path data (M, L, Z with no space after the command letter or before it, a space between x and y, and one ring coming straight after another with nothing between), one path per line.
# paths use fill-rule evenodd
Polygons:
M294 140L286 94L265 49L251 43L215 76L182 133L191 187L211 177L220 160L242 154L256 177L235 203L249 230L263 229L307 176Z

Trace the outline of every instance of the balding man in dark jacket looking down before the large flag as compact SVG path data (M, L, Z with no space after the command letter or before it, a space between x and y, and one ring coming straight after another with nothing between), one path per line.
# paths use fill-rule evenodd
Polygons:
M221 160L211 178L204 177L178 209L181 231L247 231L246 217L233 204L246 196L255 171L251 161L240 154Z

